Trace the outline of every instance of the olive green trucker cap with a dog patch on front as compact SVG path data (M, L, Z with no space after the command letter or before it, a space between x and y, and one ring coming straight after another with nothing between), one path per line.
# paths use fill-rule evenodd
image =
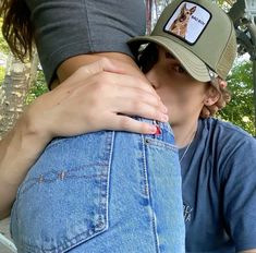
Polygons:
M225 80L236 56L233 23L210 0L173 0L151 35L135 37L129 45L136 55L148 43L164 47L200 82L217 75Z

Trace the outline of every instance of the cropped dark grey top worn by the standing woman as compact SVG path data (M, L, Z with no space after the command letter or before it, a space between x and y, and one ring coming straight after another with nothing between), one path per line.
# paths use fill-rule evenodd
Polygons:
M68 58L89 52L122 52L126 41L144 35L144 0L36 0L31 10L40 63L49 84Z

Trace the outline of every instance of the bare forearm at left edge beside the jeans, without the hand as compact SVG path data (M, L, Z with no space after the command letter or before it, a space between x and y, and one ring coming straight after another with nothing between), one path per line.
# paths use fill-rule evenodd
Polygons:
M20 183L49 141L23 116L0 142L0 219L9 215Z

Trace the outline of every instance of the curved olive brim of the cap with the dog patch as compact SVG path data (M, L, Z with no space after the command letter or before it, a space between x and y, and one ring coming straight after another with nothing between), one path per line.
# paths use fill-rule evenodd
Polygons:
M193 52L170 38L163 36L139 36L129 40L129 45L137 47L143 44L155 43L170 51L183 68L197 81L211 81L207 65Z

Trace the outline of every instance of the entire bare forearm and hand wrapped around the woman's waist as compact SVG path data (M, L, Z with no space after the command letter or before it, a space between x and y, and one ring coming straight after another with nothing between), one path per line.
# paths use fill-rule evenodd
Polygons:
M37 98L0 142L0 218L9 215L28 168L54 136L99 130L155 133L127 116L167 121L166 107L148 84L126 74L125 64L101 59L80 68Z

